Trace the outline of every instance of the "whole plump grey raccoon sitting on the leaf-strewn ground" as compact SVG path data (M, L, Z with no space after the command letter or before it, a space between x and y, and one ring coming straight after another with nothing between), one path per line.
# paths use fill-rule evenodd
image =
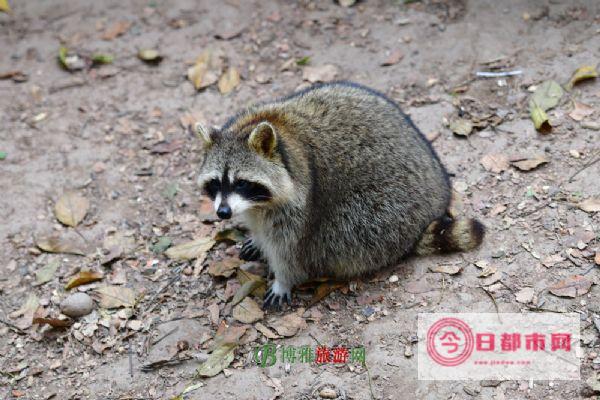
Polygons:
M316 85L251 106L220 129L197 125L198 178L217 216L237 216L274 275L263 307L294 285L349 279L407 255L477 247L483 225L454 219L448 174L385 95L352 82Z

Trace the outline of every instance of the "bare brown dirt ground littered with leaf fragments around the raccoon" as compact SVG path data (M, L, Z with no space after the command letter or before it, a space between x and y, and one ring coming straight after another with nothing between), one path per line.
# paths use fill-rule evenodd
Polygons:
M2 398L158 399L186 388L181 398L312 399L328 388L340 399L597 396L586 380L600 371L600 322L594 324L600 214L581 203L600 196L600 163L592 162L600 150L600 81L565 93L548 112L548 134L534 129L527 104L541 82L565 84L578 67L598 63L600 2L11 5L12 14L0 13L0 75L21 74L0 80ZM99 52L114 61L69 72L57 60L61 43L84 58ZM164 59L144 63L136 57L144 48L158 49ZM230 93L217 84L198 91L186 78L207 48L222 55L219 68L239 71L241 82ZM304 57L299 64L306 65L297 65ZM386 60L391 65L383 66ZM283 316L299 315L306 325L298 323L298 332L275 343L364 346L368 370L302 363L260 368L251 359L265 334L232 316L236 275L207 272L235 259L238 247L217 244L202 269L202 260L175 262L156 245L165 237L180 244L212 236L225 226L207 214L195 185L200 146L190 122L222 124L245 105L318 80L311 68L319 73L327 65L335 66L327 67L335 76L323 79L366 84L403 107L454 174L461 212L480 219L487 237L473 252L410 258L313 307L310 292L301 292L291 310L261 320L274 334ZM522 74L475 76L490 70ZM583 111L573 114L577 107ZM468 137L449 128L457 118L474 124ZM510 164L538 156L547 162L530 171ZM76 228L59 223L54 212L69 190L90 203ZM47 235L85 248L86 255L42 251ZM36 272L56 262L50 279L36 282ZM475 263L496 268L492 280L480 277ZM431 272L439 265L461 272ZM103 278L64 289L86 269ZM592 284L589 291L575 298L549 292L574 275ZM129 288L135 307L95 303L92 314L66 328L32 325L34 312L56 318L70 292L93 294L105 285ZM22 308L28 298L37 300L34 309ZM418 313L540 310L581 315L581 381L417 380ZM247 327L235 359L215 377L195 380L223 321Z

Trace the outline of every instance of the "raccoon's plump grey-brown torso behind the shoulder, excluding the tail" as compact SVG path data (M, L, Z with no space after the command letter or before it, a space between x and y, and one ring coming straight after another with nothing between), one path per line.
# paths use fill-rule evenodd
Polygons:
M315 265L326 260L335 276L352 276L406 255L444 215L446 171L391 100L337 83L293 95L283 105L297 116L290 140L301 143L310 170L302 257Z

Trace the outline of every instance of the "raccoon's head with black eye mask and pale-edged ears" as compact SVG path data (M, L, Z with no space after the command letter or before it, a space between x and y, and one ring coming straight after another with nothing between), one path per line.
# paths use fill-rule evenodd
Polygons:
M277 133L269 122L258 123L249 134L200 124L196 132L204 141L198 184L214 201L219 218L229 219L289 198L292 181L278 151Z

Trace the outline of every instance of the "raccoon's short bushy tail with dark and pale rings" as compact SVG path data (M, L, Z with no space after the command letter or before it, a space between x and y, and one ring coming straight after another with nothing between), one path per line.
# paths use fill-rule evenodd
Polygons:
M415 254L468 251L483 241L485 227L476 219L444 216L433 221L415 247Z

